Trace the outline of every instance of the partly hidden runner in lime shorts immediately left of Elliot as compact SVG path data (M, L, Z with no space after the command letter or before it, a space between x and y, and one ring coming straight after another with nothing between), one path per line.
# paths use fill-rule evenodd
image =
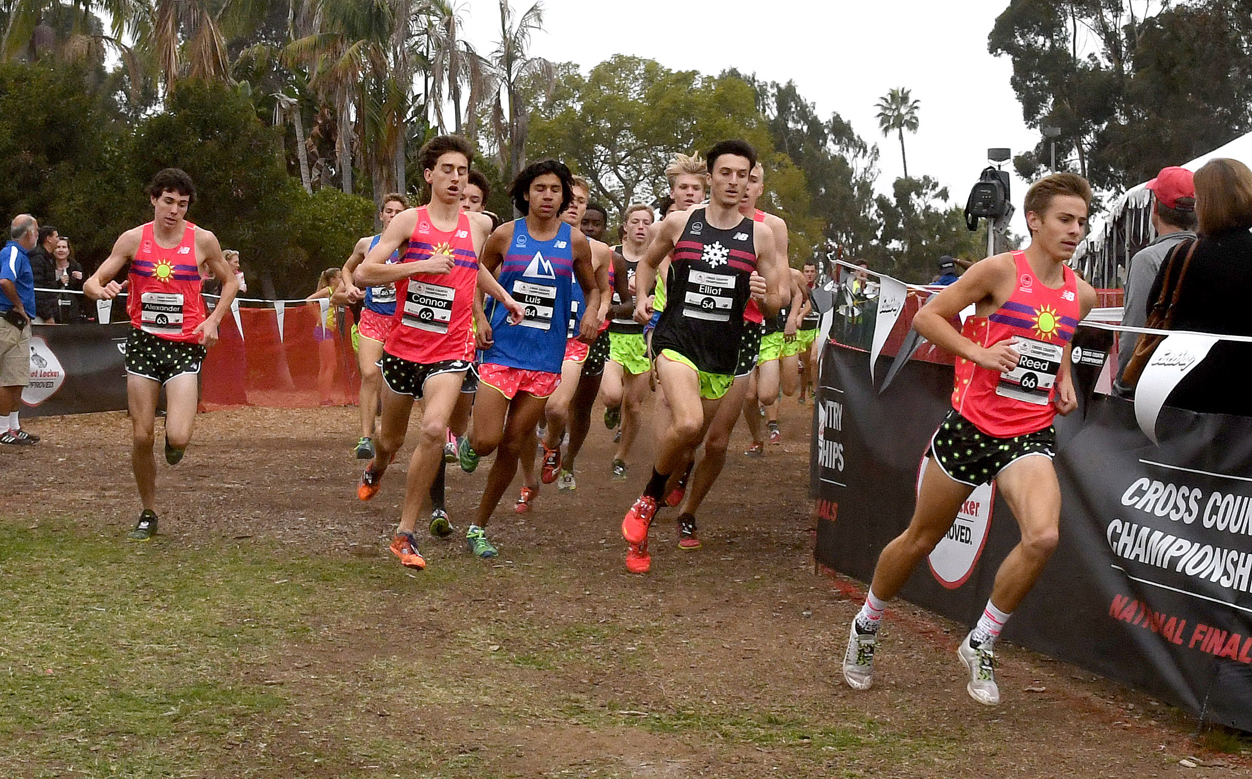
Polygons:
M636 203L622 215L622 244L613 246L625 260L626 285L635 298L647 296L651 290L639 291L635 288L635 273L644 248L647 243L647 229L655 215L651 206ZM644 399L647 396L647 373L651 364L647 349L644 346L644 325L632 319L632 300L613 298L613 319L608 323L608 364L600 385L600 396L605 401L605 426L612 429L621 424L621 439L613 453L611 473L613 481L626 479L626 458L639 434Z

